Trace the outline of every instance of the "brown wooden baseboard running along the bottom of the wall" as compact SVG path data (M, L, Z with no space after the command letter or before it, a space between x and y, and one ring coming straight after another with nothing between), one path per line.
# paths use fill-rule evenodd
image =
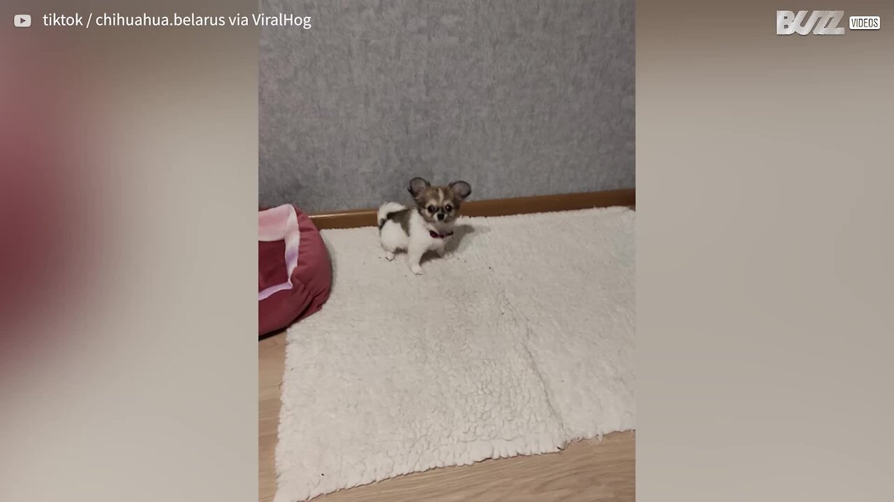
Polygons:
M462 205L462 214L464 216L507 216L510 214L574 211L577 209L611 207L616 205L628 207L637 205L637 190L635 188L628 188L555 196L473 200ZM374 208L319 213L311 214L310 219L319 230L375 227L376 211L377 209Z

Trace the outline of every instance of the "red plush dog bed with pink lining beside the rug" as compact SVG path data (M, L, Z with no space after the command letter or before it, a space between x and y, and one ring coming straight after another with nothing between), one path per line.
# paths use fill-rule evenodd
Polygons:
M329 253L307 214L294 205L257 213L258 336L323 307L332 288Z

